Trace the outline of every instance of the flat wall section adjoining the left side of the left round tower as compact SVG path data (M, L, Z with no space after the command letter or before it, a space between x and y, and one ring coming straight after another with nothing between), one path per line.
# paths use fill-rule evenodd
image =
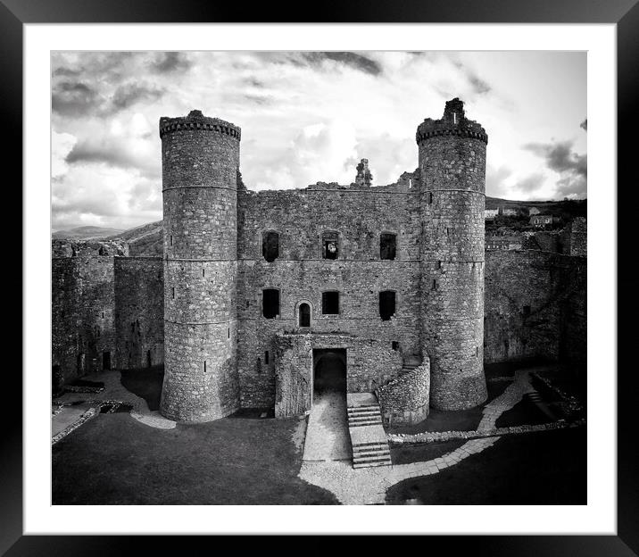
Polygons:
M164 286L161 257L117 257L115 367L164 363Z

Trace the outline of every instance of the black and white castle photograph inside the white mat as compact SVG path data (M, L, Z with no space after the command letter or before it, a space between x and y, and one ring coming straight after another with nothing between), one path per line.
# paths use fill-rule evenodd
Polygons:
M585 505L586 62L52 52L51 503Z

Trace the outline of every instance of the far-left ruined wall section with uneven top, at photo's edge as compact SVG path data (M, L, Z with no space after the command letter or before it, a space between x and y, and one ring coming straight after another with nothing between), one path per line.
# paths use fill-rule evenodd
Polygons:
M126 243L52 242L54 381L68 383L109 360L114 366L113 260L126 253Z

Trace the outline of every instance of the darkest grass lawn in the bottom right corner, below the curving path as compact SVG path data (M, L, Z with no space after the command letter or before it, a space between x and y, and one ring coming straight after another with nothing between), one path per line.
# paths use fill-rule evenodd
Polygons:
M387 504L586 504L586 428L504 436L432 476L392 486Z

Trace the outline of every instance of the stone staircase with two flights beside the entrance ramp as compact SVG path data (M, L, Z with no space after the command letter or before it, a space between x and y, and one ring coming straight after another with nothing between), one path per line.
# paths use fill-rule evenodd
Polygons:
M390 466L391 453L377 396L373 393L349 393L346 412L353 447L353 468Z

